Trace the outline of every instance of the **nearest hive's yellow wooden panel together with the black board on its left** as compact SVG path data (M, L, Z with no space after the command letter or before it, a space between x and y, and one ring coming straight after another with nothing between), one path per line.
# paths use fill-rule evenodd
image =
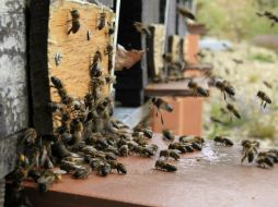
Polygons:
M81 26L77 33L69 34L72 27L70 11L73 9L80 14ZM104 5L80 0L32 1L31 11L33 124L40 134L49 134L53 132L53 117L48 105L58 100L58 95L50 89L49 78L60 78L71 96L83 98L89 92L89 69L96 51L102 53L103 72L112 72L105 48L114 45L113 35L108 32L115 14ZM106 15L105 27L97 29L101 13ZM103 96L108 94L107 86Z

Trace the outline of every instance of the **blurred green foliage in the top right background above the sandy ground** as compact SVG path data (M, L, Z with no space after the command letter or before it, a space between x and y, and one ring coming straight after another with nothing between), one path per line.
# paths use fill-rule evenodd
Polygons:
M205 23L211 36L241 41L256 35L278 34L278 25L258 17L256 12L278 14L277 0L198 0L198 22Z

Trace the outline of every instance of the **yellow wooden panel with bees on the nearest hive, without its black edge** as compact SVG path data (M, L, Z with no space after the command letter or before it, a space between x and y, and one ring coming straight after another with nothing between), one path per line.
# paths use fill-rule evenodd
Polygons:
M68 35L71 28L70 11L77 9L80 13L81 27L78 33ZM106 13L106 26L99 31L100 13ZM113 45L113 36L108 34L107 22L113 23L115 14L108 8L99 7L78 0L57 1L50 5L48 34L48 69L49 76L57 76L63 83L68 93L73 97L83 97L89 92L89 68L95 51L102 52L102 70L108 73L108 56L104 54L107 45ZM91 40L88 32L91 31ZM62 58L56 65L55 56L59 52ZM104 89L104 96L109 87ZM57 94L51 90L51 99L57 100Z

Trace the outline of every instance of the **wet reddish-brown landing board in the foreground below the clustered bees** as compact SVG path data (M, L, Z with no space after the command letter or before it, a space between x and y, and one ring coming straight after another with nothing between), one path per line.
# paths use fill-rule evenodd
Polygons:
M166 147L161 135L155 135L153 143ZM158 157L129 157L120 160L127 166L126 175L93 174L83 181L63 176L44 196L35 196L37 191L32 187L28 193L39 207L276 207L278 168L264 170L255 165L241 165L241 156L239 146L215 146L207 142L202 151L172 161L178 169L175 173L155 170Z

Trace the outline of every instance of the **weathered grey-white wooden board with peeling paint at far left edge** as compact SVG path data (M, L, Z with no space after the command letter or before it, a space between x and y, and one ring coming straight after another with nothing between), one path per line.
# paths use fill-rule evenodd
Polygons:
M28 123L25 50L24 1L1 0L0 141Z

